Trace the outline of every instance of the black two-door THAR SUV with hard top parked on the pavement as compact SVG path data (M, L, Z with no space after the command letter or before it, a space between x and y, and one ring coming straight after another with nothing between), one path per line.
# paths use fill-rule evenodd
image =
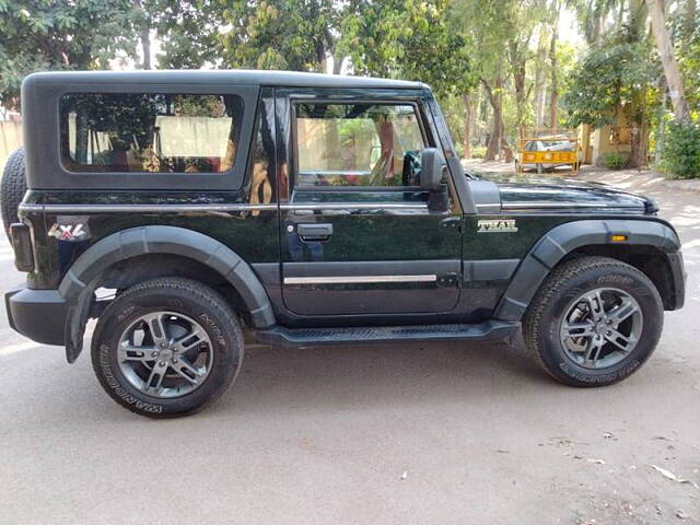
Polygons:
M684 303L680 243L652 200L466 174L421 83L36 73L22 102L28 189L10 232L28 276L10 323L72 363L96 318L97 377L142 415L220 397L244 334L306 347L522 326L556 380L607 385Z

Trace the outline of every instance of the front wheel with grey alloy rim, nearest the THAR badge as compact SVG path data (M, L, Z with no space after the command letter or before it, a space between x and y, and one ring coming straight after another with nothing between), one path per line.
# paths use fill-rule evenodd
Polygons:
M637 268L581 256L547 277L525 315L524 339L555 380L605 386L649 359L661 337L663 313L658 291Z

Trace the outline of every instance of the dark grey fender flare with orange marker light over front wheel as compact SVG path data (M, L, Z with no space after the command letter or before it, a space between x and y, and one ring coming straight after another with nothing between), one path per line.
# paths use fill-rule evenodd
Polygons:
M521 320L545 278L567 254L581 246L611 244L612 234L627 235L626 245L655 246L664 253L680 249L676 232L661 221L586 220L561 224L541 237L525 256L493 317Z

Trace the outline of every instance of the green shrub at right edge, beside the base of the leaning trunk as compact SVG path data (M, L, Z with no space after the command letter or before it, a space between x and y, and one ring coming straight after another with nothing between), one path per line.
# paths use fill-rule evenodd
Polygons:
M668 124L662 170L672 178L700 178L700 125Z

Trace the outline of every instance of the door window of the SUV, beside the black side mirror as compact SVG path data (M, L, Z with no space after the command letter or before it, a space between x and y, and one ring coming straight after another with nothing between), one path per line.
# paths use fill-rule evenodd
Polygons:
M410 104L300 103L296 187L420 185L425 148Z

